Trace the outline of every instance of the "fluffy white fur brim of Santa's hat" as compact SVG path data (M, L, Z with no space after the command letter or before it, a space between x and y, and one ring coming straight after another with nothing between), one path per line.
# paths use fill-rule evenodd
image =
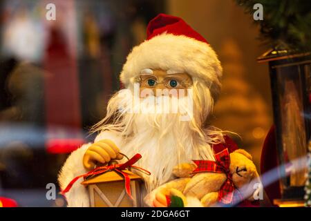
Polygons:
M218 94L223 68L216 52L202 41L184 35L162 34L135 46L126 58L120 79L125 86L133 83L145 68L160 68L188 73L207 83Z

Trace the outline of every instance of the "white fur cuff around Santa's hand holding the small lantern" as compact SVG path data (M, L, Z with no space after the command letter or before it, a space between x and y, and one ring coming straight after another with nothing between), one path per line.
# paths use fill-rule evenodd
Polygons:
M120 137L109 131L105 131L97 135L97 137L95 138L95 142L102 139L112 140L117 146L121 145ZM58 177L59 186L62 190L66 188L66 186L71 180L73 180L73 178L88 172L84 168L82 160L83 155L89 146L91 146L91 144L84 144L69 155ZM69 207L90 206L88 190L81 184L82 181L83 178L77 180L77 182L75 182L75 184L73 184L73 186L71 187L70 191L65 194Z

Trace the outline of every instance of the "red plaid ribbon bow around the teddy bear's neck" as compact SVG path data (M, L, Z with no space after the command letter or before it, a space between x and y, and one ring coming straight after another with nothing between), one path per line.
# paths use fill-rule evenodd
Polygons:
M228 148L216 153L214 156L216 161L193 160L198 167L190 174L200 172L225 173L227 175L227 180L220 187L217 199L218 202L223 204L235 204L243 201L243 196L238 189L236 189L236 186L234 186L232 174L229 171L230 155Z

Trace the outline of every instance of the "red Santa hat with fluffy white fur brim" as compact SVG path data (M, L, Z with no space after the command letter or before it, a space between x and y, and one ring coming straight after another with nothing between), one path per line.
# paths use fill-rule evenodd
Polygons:
M179 17L160 14L147 26L147 39L126 58L120 80L133 83L145 68L188 73L204 81L214 99L220 92L223 68L207 40Z

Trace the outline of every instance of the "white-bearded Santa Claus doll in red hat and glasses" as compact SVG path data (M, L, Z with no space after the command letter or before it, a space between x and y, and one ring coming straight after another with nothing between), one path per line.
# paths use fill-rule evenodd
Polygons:
M111 97L106 117L95 124L95 141L71 153L59 173L61 189L78 175L140 153L135 164L151 172L144 178L146 206L161 202L158 186L173 179L174 166L214 160L214 153L234 142L207 124L220 93L222 67L209 43L178 17L160 14L149 22L147 39L135 46L120 74L124 88ZM139 171L138 171L139 173ZM82 181L82 180L80 180ZM89 206L88 191L75 182L68 206Z

